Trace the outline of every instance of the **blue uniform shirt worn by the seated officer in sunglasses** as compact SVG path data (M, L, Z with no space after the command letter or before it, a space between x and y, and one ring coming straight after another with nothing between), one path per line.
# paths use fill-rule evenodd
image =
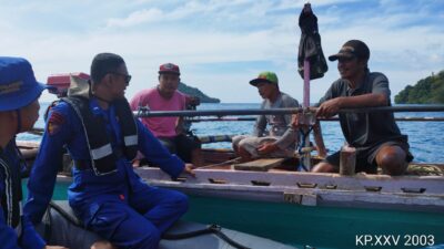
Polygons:
M93 115L102 115L105 120L105 128L111 136L112 146L117 147L123 144L114 107L110 106L108 110L102 110L92 98L90 108ZM30 216L34 224L41 220L51 200L57 173L62 164L63 146L67 145L73 160L91 159L81 120L68 103L60 102L52 107L47 123L40 152L28 183L29 195L28 203L24 206L24 215ZM178 177L183 172L183 162L175 155L171 155L140 121L135 120L135 123L139 151L170 176ZM134 173L128 158L121 156L115 164L117 172L103 176L97 176L92 168L79 170L73 167L73 181L68 190L68 199L74 211L81 210L83 212L78 215L85 217L85 220L89 219L88 216L93 216L94 209L99 208L101 203L122 201L122 199L128 199L129 194L137 193L138 189L150 188Z

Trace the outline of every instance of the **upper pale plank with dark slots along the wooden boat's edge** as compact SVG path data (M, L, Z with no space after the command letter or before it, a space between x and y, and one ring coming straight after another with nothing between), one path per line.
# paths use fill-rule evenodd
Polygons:
M171 177L159 168L135 168L138 175L147 180L172 181ZM443 176L387 176L365 175L341 176L325 173L301 172L243 172L225 169L195 169L195 177L181 175L180 180L189 184L209 184L209 179L220 179L225 184L254 185L253 181L268 183L269 186L289 186L292 188L319 188L329 190L366 190L377 193L438 195L444 197ZM312 187L314 186L314 187ZM334 189L331 187L334 186ZM370 189L370 190L369 190ZM424 189L424 190L421 190ZM421 190L421 193L420 193Z

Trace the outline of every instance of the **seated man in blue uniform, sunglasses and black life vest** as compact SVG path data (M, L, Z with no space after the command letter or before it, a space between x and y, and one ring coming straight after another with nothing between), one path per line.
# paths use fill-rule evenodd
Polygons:
M39 222L51 199L67 146L74 162L68 198L83 225L119 248L157 248L160 236L188 209L185 195L151 187L133 172L138 151L173 178L193 174L132 116L123 59L95 55L89 91L71 93L51 108L28 184L24 214Z

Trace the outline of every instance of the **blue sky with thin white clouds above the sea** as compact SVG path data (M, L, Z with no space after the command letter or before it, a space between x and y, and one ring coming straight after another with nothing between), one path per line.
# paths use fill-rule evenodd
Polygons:
M383 72L392 97L444 70L443 0L312 0L325 56L351 39L371 49L371 71ZM158 83L159 65L180 65L182 81L225 103L260 102L248 82L274 71L281 90L302 101L296 71L301 31L297 0L0 0L0 54L31 61L38 80L89 72L99 52L122 55L133 80L127 97ZM316 102L339 77L329 62L312 81ZM51 100L44 94L42 100Z

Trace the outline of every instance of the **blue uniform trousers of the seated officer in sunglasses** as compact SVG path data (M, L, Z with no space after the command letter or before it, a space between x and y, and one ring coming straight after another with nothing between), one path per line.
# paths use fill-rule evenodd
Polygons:
M91 207L98 205L91 214ZM153 249L161 235L186 211L188 197L175 190L147 187L130 194L128 200L105 200L84 208L92 215L84 217L82 208L79 210L87 227L119 248Z

